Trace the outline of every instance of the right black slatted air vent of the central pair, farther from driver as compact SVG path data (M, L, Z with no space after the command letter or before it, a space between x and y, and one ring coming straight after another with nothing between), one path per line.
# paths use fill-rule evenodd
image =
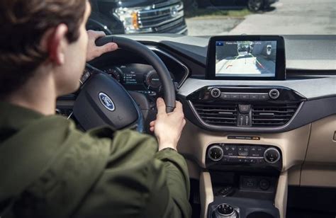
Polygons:
M253 105L252 127L279 127L285 125L298 109L299 104Z

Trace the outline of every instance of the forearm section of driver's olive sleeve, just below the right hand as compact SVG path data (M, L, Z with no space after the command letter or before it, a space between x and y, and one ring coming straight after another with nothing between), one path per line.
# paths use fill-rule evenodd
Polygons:
M191 217L189 174L183 156L173 149L164 149L155 158L162 169L155 178L145 217L155 217L158 210L162 212L160 217ZM165 203L158 209L153 207L155 202Z

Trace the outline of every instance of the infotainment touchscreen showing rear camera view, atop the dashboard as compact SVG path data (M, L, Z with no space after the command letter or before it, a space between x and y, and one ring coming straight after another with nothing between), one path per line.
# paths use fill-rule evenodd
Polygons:
M284 40L276 36L211 38L208 79L284 79Z

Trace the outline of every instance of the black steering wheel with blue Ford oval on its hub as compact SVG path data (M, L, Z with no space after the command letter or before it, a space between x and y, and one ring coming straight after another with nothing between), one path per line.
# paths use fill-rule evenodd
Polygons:
M99 38L96 45L108 42L116 42L121 49L135 52L152 65L162 84L166 111L172 112L176 103L175 87L166 65L157 54L140 42L116 36ZM106 125L115 130L126 127L136 128L139 132L144 130L141 110L128 91L116 79L98 69L80 88L73 113L84 130Z

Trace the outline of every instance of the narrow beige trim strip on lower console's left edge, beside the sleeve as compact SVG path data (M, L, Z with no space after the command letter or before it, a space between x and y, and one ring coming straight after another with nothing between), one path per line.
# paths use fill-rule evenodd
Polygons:
M208 205L213 202L213 185L208 172L202 172L199 181L199 193L201 198L201 217L208 215Z

